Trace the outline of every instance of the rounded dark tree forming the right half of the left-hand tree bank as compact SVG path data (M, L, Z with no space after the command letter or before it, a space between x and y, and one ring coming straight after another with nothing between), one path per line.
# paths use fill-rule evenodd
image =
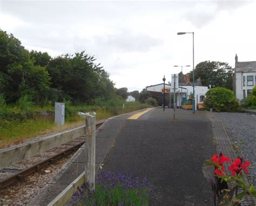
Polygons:
M114 84L109 79L109 73L95 64L95 60L84 51L50 60L51 98L61 101L69 99L74 104L90 104L98 97L112 98Z

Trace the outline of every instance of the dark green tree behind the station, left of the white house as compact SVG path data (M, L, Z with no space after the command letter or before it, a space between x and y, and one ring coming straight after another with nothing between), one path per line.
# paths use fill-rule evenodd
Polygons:
M194 69L195 80L200 78L203 86L225 87L233 90L234 69L220 61L202 61ZM190 72L193 79L193 71Z

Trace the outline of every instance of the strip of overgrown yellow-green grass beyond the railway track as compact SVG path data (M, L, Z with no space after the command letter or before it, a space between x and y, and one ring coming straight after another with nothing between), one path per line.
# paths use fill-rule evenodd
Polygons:
M2 106L0 107L0 148L9 147L23 140L34 138L38 135L61 131L84 124L84 119L77 115L77 112L97 113L96 119L107 119L114 115L123 113L122 104L116 106L113 102L105 106L65 105L65 125L56 126L54 123L54 106L36 107L32 106L29 110L23 111L20 107ZM136 111L138 109L149 107L139 102L126 102L125 113ZM42 115L42 112L48 112Z

